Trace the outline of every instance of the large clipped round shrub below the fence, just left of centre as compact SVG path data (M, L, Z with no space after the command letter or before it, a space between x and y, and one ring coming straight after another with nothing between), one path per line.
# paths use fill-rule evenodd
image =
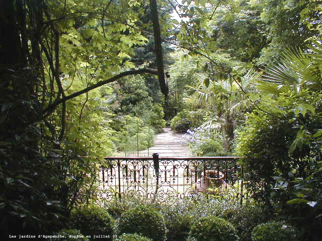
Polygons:
M120 233L139 233L153 239L166 240L167 228L163 216L149 205L129 209L119 220Z

